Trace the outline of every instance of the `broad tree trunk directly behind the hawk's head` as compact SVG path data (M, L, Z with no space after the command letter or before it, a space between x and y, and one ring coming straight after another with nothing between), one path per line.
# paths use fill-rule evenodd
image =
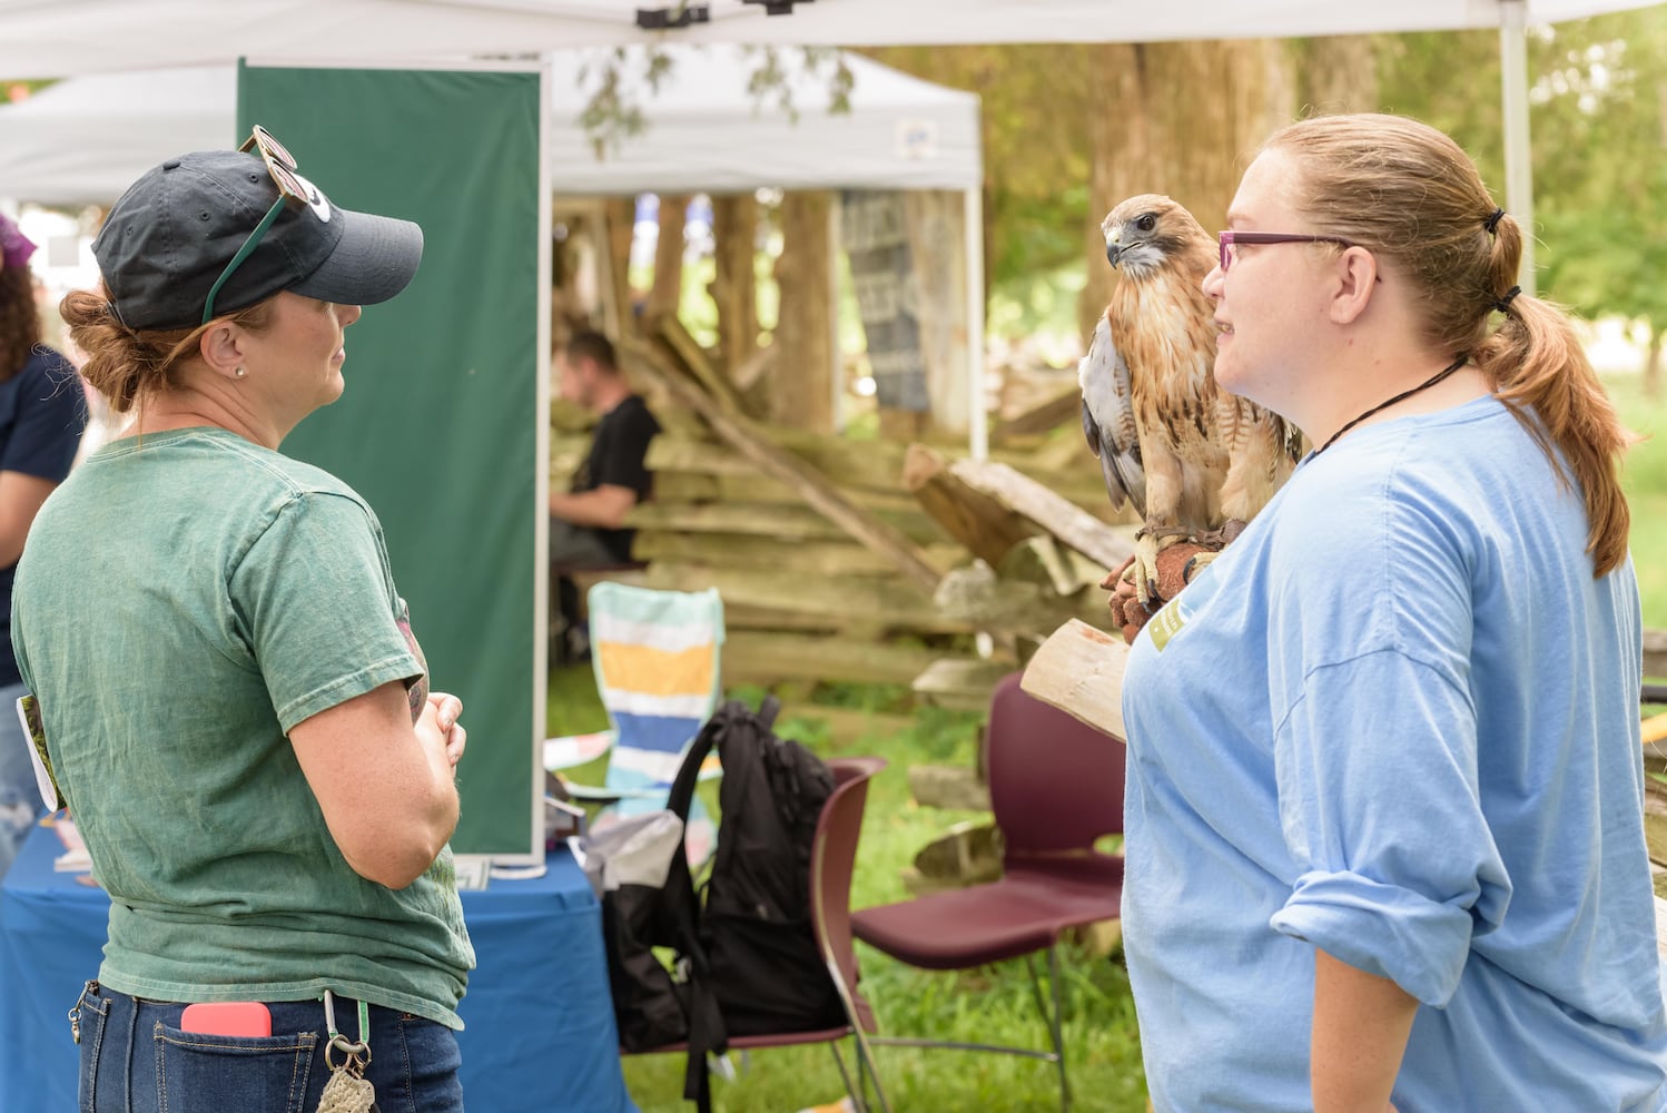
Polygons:
M1102 43L1090 47L1089 280L1084 337L1110 300L1100 222L1117 202L1167 193L1215 233L1249 153L1290 118L1294 85L1279 40Z

